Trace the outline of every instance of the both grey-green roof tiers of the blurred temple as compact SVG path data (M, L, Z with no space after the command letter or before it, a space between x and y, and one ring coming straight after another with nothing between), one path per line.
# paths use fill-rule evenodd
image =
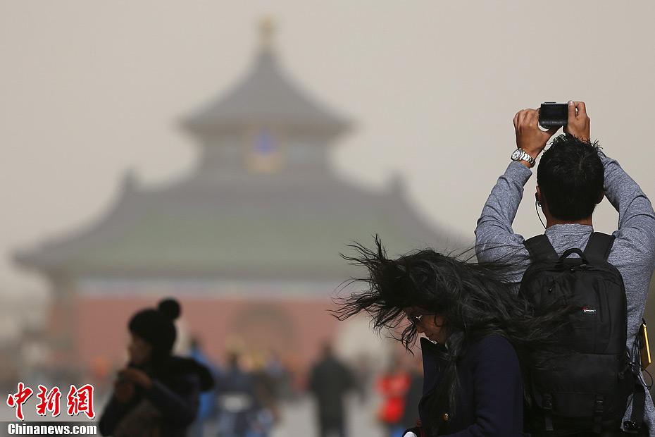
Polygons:
M254 68L232 90L185 121L199 135L257 123L299 130L310 143L349 125L287 79L270 44L262 44ZM354 241L372 245L376 233L395 254L447 247L451 235L427 226L398 185L368 190L330 171L292 168L212 171L156 187L128 177L100 219L22 250L15 260L75 277L332 281L356 273L339 253Z

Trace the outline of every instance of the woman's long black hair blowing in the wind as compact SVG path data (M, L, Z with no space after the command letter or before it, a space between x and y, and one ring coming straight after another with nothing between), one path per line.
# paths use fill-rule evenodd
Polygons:
M430 249L390 259L377 235L373 250L358 243L351 247L357 254L342 254L342 257L351 264L366 267L368 277L354 278L344 284L343 290L355 283L365 283L366 287L335 299L337 309L333 315L337 319L366 312L375 331L388 329L393 335L404 324L405 308L420 307L444 318L448 337L442 359L447 364L442 383L428 400L428 408L435 415L439 411L454 414L458 388L456 364L470 344L492 334L503 336L513 345L523 366L525 359L522 357L528 357L532 350L547 343L554 343L556 333L566 324L569 309L535 314L528 302L513 293L516 287L513 276L525 259L475 262L472 256L466 256L470 251L453 256ZM413 324L394 336L407 350L416 343L417 337ZM437 419L435 423L424 422L424 425L434 433Z

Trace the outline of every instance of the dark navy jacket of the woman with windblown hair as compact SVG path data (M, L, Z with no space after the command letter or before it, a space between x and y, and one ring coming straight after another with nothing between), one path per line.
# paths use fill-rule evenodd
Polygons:
M439 436L523 436L523 383L518 357L508 340L492 335L468 347L457 362L459 390L455 411L428 411L426 402L435 393L445 362L444 349L427 338L420 339L423 352L423 398L418 412L423 424L428 417L441 423ZM444 414L447 414L444 415ZM436 416L435 416L436 415Z

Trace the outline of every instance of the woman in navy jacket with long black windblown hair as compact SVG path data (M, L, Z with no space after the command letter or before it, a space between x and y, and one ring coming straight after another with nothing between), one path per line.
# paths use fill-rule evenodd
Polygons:
M345 257L365 266L367 289L337 300L337 319L366 312L376 331L399 332L409 350L419 334L423 398L417 436L523 436L519 357L553 341L562 311L534 316L511 293L509 264L478 264L434 250L387 258L361 245ZM408 407L413 407L409 406ZM409 434L411 435L411 434Z

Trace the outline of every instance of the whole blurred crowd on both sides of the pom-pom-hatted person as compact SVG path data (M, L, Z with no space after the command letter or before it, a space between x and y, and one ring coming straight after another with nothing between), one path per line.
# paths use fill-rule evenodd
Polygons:
M23 340L13 353L3 354L14 361L20 358L22 363L3 366L7 371L2 372L2 385L7 393L15 391L16 381L38 381L49 387L84 382L95 388L99 413L111 400L114 379L124 363L97 358L87 367L49 366L39 352L42 341L37 333ZM416 424L422 368L420 357L404 350L397 350L380 373L370 358L337 357L328 342L308 368L274 350L246 347L239 341L227 349L222 360L212 359L201 340L192 338L181 352L203 364L214 379L213 388L199 395L196 419L187 429L189 437L270 436L282 421L298 419L285 417L285 405L308 398L313 401L313 417L303 420L313 421L317 436L349 435L349 414L354 414L349 407L353 405L358 412L366 411L388 436L397 436ZM348 405L347 399L355 403ZM378 429L372 433L377 434Z

